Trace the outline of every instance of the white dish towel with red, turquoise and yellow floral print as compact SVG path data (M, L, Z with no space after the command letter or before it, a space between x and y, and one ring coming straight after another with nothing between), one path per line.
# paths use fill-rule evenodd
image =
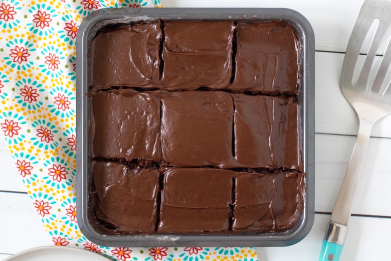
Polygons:
M55 245L114 260L258 260L247 247L103 247L76 220L76 34L101 8L162 7L160 0L0 0L1 132Z

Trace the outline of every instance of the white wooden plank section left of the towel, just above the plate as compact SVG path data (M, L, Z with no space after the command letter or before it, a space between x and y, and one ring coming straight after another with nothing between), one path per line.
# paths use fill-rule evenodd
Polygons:
M27 194L0 192L0 253L53 245Z

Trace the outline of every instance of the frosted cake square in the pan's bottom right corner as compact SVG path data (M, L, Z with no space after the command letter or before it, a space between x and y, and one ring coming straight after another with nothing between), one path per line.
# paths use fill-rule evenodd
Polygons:
M233 230L287 230L300 221L303 174L242 173L235 182Z

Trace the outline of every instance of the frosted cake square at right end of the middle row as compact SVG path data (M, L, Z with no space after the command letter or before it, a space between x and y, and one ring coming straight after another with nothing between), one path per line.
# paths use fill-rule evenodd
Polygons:
M235 157L247 167L302 170L293 98L233 94Z

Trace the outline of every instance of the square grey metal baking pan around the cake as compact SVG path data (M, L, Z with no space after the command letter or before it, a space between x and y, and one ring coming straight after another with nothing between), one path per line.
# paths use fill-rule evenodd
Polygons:
M92 175L89 48L97 32L107 25L135 24L143 21L271 21L290 24L299 43L299 140L305 191L300 222L284 232L221 232L221 233L140 233L107 234L96 229L91 218ZM102 9L90 14L80 25L77 35L77 218L83 234L103 246L287 246L303 239L314 220L314 33L308 21L289 9Z

